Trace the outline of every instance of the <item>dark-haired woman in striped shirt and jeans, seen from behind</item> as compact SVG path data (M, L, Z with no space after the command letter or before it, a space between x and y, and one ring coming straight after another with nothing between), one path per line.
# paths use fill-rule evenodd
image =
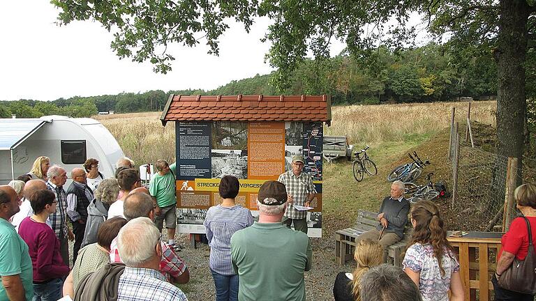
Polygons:
M234 232L253 224L248 208L234 203L240 184L234 176L220 181L221 204L212 206L204 219L210 245L209 266L216 285L216 301L238 300L238 275L231 264L231 236Z

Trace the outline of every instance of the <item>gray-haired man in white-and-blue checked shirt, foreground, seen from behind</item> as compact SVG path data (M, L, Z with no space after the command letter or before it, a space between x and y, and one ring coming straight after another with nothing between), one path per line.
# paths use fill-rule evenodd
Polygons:
M179 300L186 295L158 272L162 258L161 233L151 219L131 219L117 235L126 268L119 277L117 300Z

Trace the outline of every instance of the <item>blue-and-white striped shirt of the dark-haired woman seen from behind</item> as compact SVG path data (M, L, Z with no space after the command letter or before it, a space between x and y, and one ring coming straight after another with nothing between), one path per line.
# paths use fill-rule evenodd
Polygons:
M210 245L209 266L220 275L234 275L231 263L231 236L253 224L248 208L236 205L213 206L207 211L204 226Z

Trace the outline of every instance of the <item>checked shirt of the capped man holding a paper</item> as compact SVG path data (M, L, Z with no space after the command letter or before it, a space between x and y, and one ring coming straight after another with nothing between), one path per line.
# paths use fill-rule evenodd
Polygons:
M301 171L299 176L296 176L291 169L290 171L282 173L277 180L285 184L287 187L287 194L290 194L294 199L292 204L287 204L285 217L290 219L306 218L307 211L296 210L293 205L305 206L309 194L316 193L315 185L313 185L313 177L304 171Z

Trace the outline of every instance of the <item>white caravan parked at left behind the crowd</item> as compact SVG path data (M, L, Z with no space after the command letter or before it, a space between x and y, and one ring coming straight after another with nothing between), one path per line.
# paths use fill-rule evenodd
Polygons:
M95 158L99 171L110 178L124 153L112 134L92 118L0 118L0 184L28 173L41 155L64 167L68 177L73 168Z

